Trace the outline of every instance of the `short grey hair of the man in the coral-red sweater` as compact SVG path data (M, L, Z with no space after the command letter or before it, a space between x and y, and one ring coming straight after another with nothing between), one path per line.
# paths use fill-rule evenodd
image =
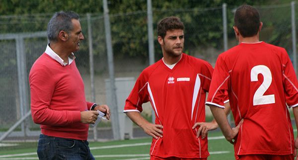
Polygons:
M48 23L48 39L50 42L57 42L60 31L68 34L74 29L72 19L79 19L79 15L74 11L56 12Z

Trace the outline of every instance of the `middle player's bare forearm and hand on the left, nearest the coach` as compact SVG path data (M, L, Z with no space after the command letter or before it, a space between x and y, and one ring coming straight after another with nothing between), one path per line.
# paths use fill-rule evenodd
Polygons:
M126 115L138 126L140 126L146 134L157 139L162 137L162 125L152 124L148 122L140 112L126 112Z

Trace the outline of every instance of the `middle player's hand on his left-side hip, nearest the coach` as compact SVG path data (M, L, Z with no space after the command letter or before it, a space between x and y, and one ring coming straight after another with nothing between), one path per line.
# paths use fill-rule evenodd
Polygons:
M157 139L158 137L162 137L162 125L145 123L144 125L140 125L140 127L147 133L149 136Z

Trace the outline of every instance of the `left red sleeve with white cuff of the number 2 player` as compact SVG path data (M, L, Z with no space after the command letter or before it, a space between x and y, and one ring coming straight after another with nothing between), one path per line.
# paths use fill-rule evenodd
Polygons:
M224 108L224 101L228 99L226 90L228 88L228 83L230 80L229 72L226 64L220 55L212 76L210 89L206 104L215 105Z

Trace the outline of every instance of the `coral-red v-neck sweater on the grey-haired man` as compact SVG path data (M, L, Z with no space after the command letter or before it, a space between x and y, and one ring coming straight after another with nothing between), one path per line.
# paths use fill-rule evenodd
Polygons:
M88 124L80 112L89 110L83 80L75 62L62 66L44 53L33 64L29 83L33 121L47 136L87 140Z

